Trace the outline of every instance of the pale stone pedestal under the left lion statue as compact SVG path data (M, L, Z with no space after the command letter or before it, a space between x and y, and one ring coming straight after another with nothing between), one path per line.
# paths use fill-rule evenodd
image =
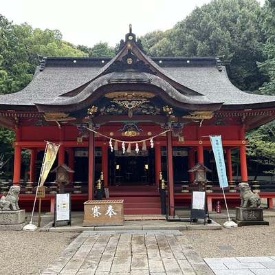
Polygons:
M25 210L0 211L0 230L22 230L25 225Z

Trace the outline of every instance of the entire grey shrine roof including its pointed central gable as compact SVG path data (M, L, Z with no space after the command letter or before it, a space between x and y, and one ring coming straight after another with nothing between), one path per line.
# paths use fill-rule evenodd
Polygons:
M91 96L99 98L96 90L104 85L125 83L161 89L159 96L164 96L164 101L171 100L186 110L275 107L275 96L248 94L232 85L215 57L148 58L131 36L131 32L126 34L114 58L42 58L25 89L0 96L0 109L76 107ZM127 63L129 58L133 64Z

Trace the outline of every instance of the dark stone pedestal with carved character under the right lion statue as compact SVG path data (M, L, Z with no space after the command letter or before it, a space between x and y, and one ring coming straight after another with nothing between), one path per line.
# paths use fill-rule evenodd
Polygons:
M244 225L270 225L263 220L263 208L236 207L236 219L232 219L238 226Z

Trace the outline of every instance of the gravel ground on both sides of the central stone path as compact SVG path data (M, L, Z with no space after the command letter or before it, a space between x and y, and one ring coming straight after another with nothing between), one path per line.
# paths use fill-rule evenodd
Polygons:
M228 221L213 220L221 225ZM275 217L266 217L264 220L269 221L270 225L190 230L182 233L202 258L275 256ZM75 232L0 230L0 274L39 275L78 235ZM234 250L219 250L218 246L230 246ZM6 247L10 249L6 250Z

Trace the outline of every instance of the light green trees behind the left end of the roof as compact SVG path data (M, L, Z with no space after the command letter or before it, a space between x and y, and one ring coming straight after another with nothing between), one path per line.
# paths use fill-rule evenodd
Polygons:
M87 56L62 40L58 30L33 29L27 23L12 25L0 14L0 94L23 89L33 78L38 54Z

